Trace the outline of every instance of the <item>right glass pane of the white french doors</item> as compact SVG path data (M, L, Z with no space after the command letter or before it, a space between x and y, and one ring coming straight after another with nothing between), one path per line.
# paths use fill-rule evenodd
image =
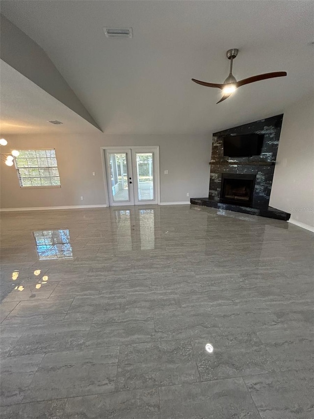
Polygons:
M138 200L154 200L153 153L136 153L136 173Z

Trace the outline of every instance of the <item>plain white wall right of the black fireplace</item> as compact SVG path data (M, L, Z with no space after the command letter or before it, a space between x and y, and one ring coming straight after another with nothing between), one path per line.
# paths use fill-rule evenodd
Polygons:
M314 228L314 94L285 110L270 206Z

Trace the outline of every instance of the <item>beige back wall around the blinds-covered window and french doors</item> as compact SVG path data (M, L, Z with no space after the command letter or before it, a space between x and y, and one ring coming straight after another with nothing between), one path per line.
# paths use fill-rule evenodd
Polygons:
M6 135L12 149L55 148L61 188L21 189L13 167L0 164L1 208L72 205L104 205L105 185L101 147L106 145L159 145L160 201L189 202L190 197L208 196L211 134L182 135ZM165 175L164 170L169 170ZM96 172L96 176L92 172ZM84 200L80 200L80 196Z

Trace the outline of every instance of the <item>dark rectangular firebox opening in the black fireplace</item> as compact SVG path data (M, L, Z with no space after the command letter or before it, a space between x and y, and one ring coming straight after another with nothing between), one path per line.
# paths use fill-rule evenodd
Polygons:
M220 202L250 207L255 178L251 174L223 173Z

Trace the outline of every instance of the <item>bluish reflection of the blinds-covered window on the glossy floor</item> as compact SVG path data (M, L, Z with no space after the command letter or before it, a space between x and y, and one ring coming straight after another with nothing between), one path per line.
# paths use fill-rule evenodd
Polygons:
M34 237L40 260L73 258L69 230L34 231Z

